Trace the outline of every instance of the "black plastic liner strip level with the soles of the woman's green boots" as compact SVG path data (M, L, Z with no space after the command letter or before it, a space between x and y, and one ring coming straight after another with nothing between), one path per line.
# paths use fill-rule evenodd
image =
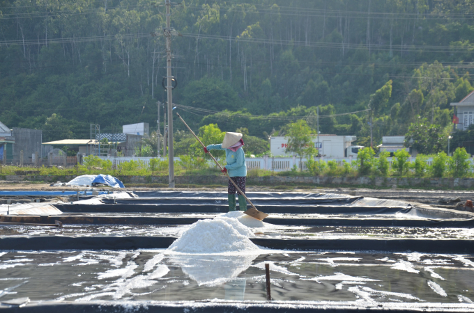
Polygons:
M113 200L112 200L113 201ZM63 212L72 213L227 213L224 204L54 204ZM406 207L358 207L337 205L256 205L267 214L395 214L408 213Z

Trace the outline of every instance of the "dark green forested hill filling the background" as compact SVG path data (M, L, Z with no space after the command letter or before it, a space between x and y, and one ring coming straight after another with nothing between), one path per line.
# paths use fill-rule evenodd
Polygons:
M45 141L89 138L89 123L156 127L163 3L0 0L0 121ZM473 18L468 0L184 0L171 15L174 102L197 108L177 109L194 128L261 138L293 117L315 128L316 106L371 106L377 141L419 115L446 127L450 102L473 90ZM367 143L367 118L321 116L320 130Z

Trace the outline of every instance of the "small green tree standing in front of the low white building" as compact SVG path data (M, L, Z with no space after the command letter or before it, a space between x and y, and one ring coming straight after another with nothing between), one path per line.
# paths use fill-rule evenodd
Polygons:
M288 133L285 138L288 139L286 152L293 152L300 158L300 171L303 171L303 157L313 155L316 150L311 136L311 129L305 120L287 125Z

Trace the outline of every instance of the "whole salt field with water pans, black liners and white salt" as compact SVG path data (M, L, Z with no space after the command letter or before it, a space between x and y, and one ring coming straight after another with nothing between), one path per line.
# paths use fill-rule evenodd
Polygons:
M225 213L222 193L18 204L52 214L1 216L0 308L474 312L472 214L348 195L253 196L275 213Z

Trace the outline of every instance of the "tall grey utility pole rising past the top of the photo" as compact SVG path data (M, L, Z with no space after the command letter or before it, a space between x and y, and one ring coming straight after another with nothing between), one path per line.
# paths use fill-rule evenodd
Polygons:
M174 150L173 150L173 95L171 82L171 0L166 4L166 69L167 69L167 94L168 94L168 186L174 188Z

